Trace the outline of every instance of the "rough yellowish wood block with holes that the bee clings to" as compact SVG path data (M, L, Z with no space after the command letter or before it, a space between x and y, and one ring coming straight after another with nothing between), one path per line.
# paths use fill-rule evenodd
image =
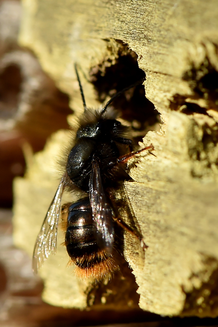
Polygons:
M74 62L89 78L90 71L104 75L118 62L116 40L138 55L146 97L163 122L159 132L144 138L145 145L153 143L156 157L140 156L130 164L133 181L125 183L149 245L143 261L137 242L125 236L139 306L161 315L217 316L217 1L23 0L23 8L20 44L37 54L43 69L71 96L75 112L81 112L81 99ZM83 84L87 103L98 105L93 85L84 77ZM15 181L15 243L30 254L58 185L55 158L68 136L67 131L54 135L31 159L25 178ZM78 281L66 261L60 247L42 268L44 299L83 308L90 282ZM100 300L106 306L117 305L110 287Z

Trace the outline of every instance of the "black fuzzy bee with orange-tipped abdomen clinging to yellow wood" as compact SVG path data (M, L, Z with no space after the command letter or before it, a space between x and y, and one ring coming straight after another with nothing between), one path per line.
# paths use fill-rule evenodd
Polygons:
M126 138L127 128L117 119L109 105L126 90L140 84L140 80L118 92L103 109L93 111L86 107L80 77L75 64L84 114L77 130L75 145L65 164L65 173L51 202L33 253L35 272L52 253L56 253L59 216L65 221L65 246L70 262L76 265L79 277L93 277L97 281L117 268L113 256L115 223L132 233L145 245L141 234L121 218L110 190L124 181L128 174L123 165L137 153L154 149L152 145L136 152L132 140ZM85 192L85 198L61 206L65 188ZM62 213L61 213L62 211Z

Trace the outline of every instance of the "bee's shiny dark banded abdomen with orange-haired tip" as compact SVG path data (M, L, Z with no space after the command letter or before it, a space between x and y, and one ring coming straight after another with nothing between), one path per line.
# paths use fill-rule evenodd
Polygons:
M65 245L79 277L101 280L116 269L112 255L100 250L96 243L89 198L70 205Z

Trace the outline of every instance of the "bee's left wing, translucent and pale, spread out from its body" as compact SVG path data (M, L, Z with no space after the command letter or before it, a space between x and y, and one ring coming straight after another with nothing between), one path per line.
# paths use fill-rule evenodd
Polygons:
M65 178L63 177L36 240L32 261L34 272L38 271L51 253L56 253L58 218L61 211L61 198L65 186L64 181Z

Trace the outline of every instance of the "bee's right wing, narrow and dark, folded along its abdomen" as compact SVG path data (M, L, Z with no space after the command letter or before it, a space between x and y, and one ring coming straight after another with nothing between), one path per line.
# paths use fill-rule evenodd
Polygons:
M109 198L105 195L99 163L92 165L89 181L89 199L96 232L96 241L101 250L111 253L114 244L113 210Z

